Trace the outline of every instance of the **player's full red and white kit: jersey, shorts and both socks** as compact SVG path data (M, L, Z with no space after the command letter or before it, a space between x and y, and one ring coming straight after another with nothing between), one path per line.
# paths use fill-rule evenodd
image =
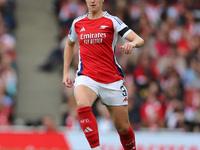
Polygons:
M79 40L79 67L75 88L85 85L93 90L107 106L128 105L128 95L123 85L123 72L116 61L115 46L118 34L125 38L131 30L119 18L104 12L98 19L88 14L76 18L69 32L72 42ZM91 148L99 148L97 122L90 106L78 109L79 122ZM131 127L119 133L126 150L135 149Z

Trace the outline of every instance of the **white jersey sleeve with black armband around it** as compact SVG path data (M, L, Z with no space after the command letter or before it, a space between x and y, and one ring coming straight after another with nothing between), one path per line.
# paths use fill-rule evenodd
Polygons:
M125 38L132 31L118 17L114 17L113 24L114 24L114 30L118 32L118 34L123 38Z

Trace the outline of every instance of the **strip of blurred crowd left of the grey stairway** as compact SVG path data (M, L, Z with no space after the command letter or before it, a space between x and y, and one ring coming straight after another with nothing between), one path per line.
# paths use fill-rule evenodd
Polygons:
M0 0L0 126L12 125L17 94L14 0Z

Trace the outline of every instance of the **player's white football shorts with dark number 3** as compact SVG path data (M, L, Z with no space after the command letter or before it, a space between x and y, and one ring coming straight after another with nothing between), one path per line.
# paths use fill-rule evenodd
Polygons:
M74 86L85 85L93 90L101 99L101 103L108 106L128 105L128 94L124 86L124 80L119 80L109 84L103 84L94 81L88 76L78 76L75 79Z

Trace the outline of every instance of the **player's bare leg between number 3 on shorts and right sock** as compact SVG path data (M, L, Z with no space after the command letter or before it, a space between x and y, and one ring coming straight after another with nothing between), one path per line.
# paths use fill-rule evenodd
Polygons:
M127 132L130 126L127 105L106 107L117 131L122 133Z

